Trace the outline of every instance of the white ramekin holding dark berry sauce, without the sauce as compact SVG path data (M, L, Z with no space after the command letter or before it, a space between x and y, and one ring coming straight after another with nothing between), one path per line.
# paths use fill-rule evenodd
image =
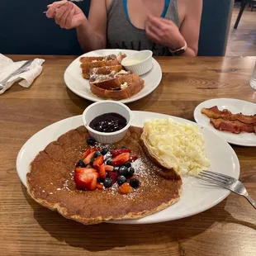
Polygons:
M117 113L121 116L124 116L127 121L127 125L115 132L100 132L97 130L93 130L89 124L91 121L103 114L107 113ZM132 121L132 112L130 111L129 107L126 107L125 104L120 102L113 102L113 101L102 101L102 102L95 102L89 107L87 107L83 111L83 125L88 129L89 134L94 138L98 143L101 144L112 144L124 138L128 128L131 125Z

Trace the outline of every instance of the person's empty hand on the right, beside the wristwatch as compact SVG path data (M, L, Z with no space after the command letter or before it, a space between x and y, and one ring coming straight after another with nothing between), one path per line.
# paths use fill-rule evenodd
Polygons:
M149 16L145 23L145 31L150 40L158 45L177 50L185 45L185 40L173 21Z

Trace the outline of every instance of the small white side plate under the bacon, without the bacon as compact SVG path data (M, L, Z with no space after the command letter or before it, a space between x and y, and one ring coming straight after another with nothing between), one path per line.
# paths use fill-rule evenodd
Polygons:
M194 111L194 118L197 124L204 126L214 131L217 135L220 135L224 140L231 144L242 145L242 146L256 146L256 135L254 133L242 132L239 135L232 134L223 130L216 130L210 124L210 118L201 113L203 107L214 107L217 106L220 110L228 109L233 114L242 112L244 115L255 115L256 104L252 102L245 102L232 98L216 98L206 102L201 102Z

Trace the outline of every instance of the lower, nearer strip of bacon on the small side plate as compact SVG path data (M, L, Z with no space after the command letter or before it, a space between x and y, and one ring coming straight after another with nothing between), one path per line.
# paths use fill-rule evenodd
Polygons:
M242 131L245 132L254 132L256 134L256 124L250 125L250 124L244 124L240 121L229 121L222 118L211 118L211 124L217 129L217 130L225 130L230 131L235 134L239 134Z

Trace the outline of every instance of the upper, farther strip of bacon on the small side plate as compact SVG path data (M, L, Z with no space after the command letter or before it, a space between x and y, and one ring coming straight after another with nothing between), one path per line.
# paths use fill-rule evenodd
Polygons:
M232 114L229 110L224 109L220 111L217 106L210 108L202 108L201 113L208 116L209 118L222 118L230 121L240 121L244 124L256 124L256 115L254 116L246 116L242 113Z

